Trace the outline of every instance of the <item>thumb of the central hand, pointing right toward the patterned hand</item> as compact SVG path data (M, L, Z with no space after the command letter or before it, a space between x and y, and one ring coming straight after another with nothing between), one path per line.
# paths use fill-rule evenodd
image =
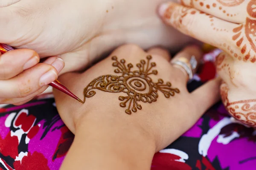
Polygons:
M191 93L195 100L195 106L198 113L205 113L212 105L220 100L221 78L215 78ZM201 115L200 115L201 116Z

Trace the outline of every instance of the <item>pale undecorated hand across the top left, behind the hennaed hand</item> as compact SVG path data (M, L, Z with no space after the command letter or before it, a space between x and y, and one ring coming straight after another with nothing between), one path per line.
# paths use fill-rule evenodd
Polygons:
M192 39L158 19L155 8L163 1L1 0L0 43L58 55L66 63L61 74L81 71L124 43L175 51Z

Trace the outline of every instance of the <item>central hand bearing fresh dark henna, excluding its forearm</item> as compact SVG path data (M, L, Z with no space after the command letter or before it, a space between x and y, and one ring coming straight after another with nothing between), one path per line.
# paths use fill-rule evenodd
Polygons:
M190 46L175 58L192 55L199 59L201 52ZM73 133L88 119L123 130L142 128L153 136L156 150L173 142L219 100L218 79L189 93L188 75L173 67L168 52L159 48L145 52L136 45L123 45L84 73L68 73L59 79L85 97L81 104L54 91L58 112Z

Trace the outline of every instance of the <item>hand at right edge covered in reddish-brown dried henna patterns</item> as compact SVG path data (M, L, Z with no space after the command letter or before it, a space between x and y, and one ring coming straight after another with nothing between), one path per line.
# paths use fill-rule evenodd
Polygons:
M224 51L216 59L218 74L224 80L224 105L236 119L256 127L256 1L181 2L187 7L166 3L159 8L164 22Z

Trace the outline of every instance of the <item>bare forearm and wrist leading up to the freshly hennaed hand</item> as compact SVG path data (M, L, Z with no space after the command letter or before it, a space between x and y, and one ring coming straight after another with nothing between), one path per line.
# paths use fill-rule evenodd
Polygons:
M76 126L75 140L61 170L150 169L155 144L146 134L113 116L98 119L93 114L88 113Z

